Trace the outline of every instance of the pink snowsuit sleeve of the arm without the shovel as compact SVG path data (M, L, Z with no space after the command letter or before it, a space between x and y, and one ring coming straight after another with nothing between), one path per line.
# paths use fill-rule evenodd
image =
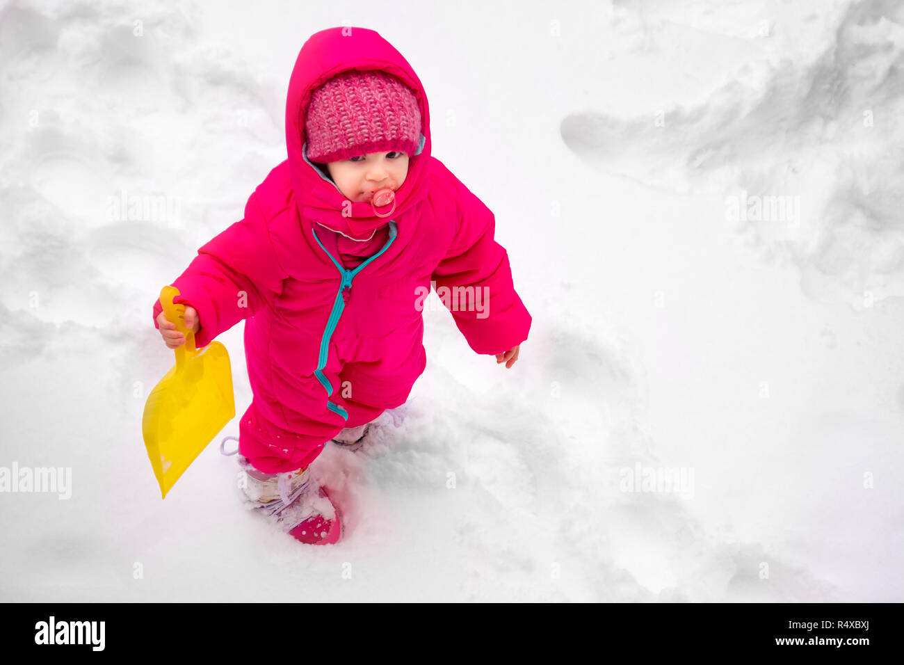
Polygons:
M457 233L431 279L468 346L504 353L527 339L532 318L514 290L508 253L494 240L494 214L457 179L455 186Z

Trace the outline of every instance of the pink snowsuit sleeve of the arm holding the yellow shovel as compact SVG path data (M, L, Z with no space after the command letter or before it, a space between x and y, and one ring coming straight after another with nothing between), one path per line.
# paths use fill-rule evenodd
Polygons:
M204 244L188 268L173 282L183 303L198 310L201 329L195 347L206 347L214 337L250 318L264 306L272 306L282 293L288 275L279 267L270 240L267 220L256 195L245 205L245 218ZM163 311L154 303L154 326Z

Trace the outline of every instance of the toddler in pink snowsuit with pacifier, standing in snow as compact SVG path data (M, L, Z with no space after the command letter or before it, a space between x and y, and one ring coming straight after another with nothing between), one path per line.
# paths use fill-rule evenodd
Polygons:
M247 319L243 497L290 536L324 545L342 519L311 462L328 442L360 445L369 423L408 399L427 364L431 286L468 346L506 367L532 319L493 213L431 156L427 95L380 34L337 27L306 41L286 144L244 219L174 280L174 302L199 348ZM162 309L158 300L166 346L184 344Z

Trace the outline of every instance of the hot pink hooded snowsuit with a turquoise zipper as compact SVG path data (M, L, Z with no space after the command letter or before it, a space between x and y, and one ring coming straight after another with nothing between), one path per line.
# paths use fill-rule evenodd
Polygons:
M419 100L419 152L386 219L348 202L304 151L311 91L350 69L387 71ZM431 282L478 354L508 351L531 328L493 213L430 155L427 95L400 52L365 28L315 33L298 53L286 106L287 160L250 195L244 219L173 282L174 302L198 311L197 347L247 319L254 397L241 416L240 453L264 472L306 466L344 428L405 403L427 364L422 303ZM382 249L346 269L334 232L362 239L386 223ZM158 300L155 326L161 310Z

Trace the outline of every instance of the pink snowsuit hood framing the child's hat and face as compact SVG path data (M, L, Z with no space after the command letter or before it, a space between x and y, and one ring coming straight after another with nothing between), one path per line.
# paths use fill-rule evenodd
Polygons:
M308 38L289 80L286 100L288 166L298 213L355 240L365 240L386 220L369 203L348 202L332 180L306 157L305 119L311 94L343 71L380 70L396 76L414 91L421 118L419 152L410 156L408 176L395 193L396 215L427 195L430 157L430 114L427 94L408 61L379 33L367 28L335 27Z

